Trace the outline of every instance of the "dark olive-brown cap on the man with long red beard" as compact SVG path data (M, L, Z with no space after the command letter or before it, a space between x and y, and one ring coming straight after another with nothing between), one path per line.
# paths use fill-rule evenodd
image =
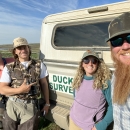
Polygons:
M111 21L108 26L108 33L107 42L118 35L130 33L130 12L125 12Z

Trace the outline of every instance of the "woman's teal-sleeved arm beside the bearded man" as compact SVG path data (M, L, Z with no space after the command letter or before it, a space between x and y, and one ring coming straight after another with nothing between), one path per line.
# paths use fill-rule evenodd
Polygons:
M111 83L108 81L108 88L103 90L104 96L107 100L108 107L107 112L104 118L95 124L97 130L106 130L108 125L113 121L113 108L112 108L112 99L111 99Z

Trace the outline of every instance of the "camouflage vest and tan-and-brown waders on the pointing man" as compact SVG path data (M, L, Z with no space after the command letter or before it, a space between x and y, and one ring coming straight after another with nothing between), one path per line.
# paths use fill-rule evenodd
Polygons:
M4 130L38 130L40 112L37 109L37 98L40 95L40 67L41 61L30 60L25 68L15 61L7 65L11 76L10 86L21 86L24 79L28 84L36 82L29 93L17 94L9 97L4 113Z

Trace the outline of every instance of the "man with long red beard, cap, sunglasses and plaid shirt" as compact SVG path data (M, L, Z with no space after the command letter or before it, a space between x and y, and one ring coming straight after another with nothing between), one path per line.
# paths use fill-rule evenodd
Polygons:
M112 100L114 130L130 129L130 12L110 22L108 43L114 61Z

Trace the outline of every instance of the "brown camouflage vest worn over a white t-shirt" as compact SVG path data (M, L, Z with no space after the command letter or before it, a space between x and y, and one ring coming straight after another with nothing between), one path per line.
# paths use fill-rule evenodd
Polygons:
M12 88L17 88L22 85L24 79L26 79L27 84L36 82L36 84L32 87L35 87L35 95L30 95L29 93L21 93L17 95L13 95L16 98L20 99L31 99L37 98L40 95L40 68L41 61L31 59L28 63L28 67L25 68L18 60L15 62L6 64L6 67L9 70L9 74L11 77L10 86ZM31 87L31 88L32 88Z

